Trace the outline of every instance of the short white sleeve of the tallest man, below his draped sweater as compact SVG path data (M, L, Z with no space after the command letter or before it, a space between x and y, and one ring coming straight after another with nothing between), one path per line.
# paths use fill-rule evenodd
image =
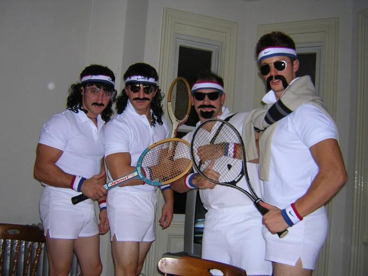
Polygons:
M303 104L294 112L295 131L308 148L328 138L338 139L334 121L315 105Z

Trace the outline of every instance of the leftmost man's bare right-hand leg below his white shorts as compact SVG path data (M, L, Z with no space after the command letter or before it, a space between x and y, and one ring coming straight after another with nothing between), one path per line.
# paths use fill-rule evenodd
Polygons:
M102 272L99 257L99 235L78 237L74 242L75 254L78 258L82 275L98 276Z

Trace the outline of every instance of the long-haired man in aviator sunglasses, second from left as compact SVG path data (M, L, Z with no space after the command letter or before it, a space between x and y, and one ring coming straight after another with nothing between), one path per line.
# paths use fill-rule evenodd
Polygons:
M111 179L131 173L142 151L169 135L156 70L149 64L135 63L123 78L125 87L116 102L118 114L104 129ZM155 239L156 188L135 179L107 193L115 275L135 276L142 269ZM165 204L158 222L166 228L173 218L173 192L169 185L160 189Z

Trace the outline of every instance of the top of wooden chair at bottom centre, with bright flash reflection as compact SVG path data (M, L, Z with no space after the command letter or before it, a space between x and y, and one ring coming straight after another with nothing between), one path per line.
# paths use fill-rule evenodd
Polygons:
M211 269L218 269L223 276L246 276L244 269L230 264L201 259L192 256L163 257L158 261L158 270L164 276L205 276L212 275Z

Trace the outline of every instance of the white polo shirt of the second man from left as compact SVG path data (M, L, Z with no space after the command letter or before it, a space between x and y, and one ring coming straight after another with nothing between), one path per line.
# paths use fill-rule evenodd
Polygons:
M103 143L105 156L117 152L129 152L131 166L136 166L136 162L149 145L159 140L167 138L169 135L166 120L162 118L163 123L158 122L154 126L148 122L145 115L139 115L133 105L128 100L124 112L116 115L109 121L103 130ZM112 179L110 173L108 176ZM155 186L148 184L125 186L125 190L155 190Z

